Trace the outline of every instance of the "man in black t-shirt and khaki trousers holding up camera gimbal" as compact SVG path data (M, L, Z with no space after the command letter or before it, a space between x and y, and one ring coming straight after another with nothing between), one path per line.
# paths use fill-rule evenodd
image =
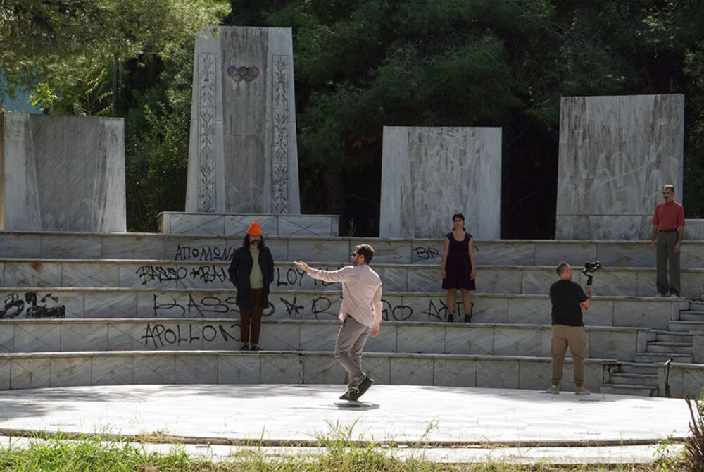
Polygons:
M565 352L570 347L574 359L574 393L576 395L589 395L589 390L584 387L584 358L586 357L586 340L584 339L584 322L582 310L588 310L591 304L591 272L601 268L598 261L586 263L584 275L587 276L586 293L576 282L572 282L572 267L566 262L560 262L555 268L560 280L550 286L550 302L553 305L553 338L550 346L552 356L551 366L553 386L548 388L548 393L560 393L562 382L562 364L565 361Z

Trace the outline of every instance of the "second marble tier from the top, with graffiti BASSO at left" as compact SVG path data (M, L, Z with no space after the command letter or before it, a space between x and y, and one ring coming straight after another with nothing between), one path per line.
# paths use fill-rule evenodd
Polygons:
M439 266L372 262L385 291L445 292ZM0 259L3 287L148 287L148 288L232 288L227 275L229 263L222 261L158 261L131 259ZM316 268L337 269L339 264L310 263ZM682 271L682 292L693 299L704 286L703 269ZM546 294L557 280L554 268L545 266L478 266L477 290L501 294ZM585 283L581 272L574 280ZM614 268L595 278L594 294L610 297L651 298L655 270ZM339 284L320 282L305 275L292 263L276 263L273 289L332 290ZM660 299L689 309L686 300Z

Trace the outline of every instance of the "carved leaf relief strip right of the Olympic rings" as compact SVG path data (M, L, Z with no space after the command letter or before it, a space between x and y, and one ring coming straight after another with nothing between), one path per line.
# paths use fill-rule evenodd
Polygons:
M274 128L272 169L272 213L287 213L289 198L289 56L272 56L274 71L274 106L272 121Z

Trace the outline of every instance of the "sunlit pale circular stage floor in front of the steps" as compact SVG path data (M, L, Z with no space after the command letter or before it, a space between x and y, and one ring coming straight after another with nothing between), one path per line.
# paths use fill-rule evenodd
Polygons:
M218 460L242 447L320 452L318 438L351 428L351 440L393 443L391 453L399 457L568 464L653 461L658 442L676 442L689 433L684 399L373 385L360 402L349 403L338 399L345 390L343 385L8 390L0 392L0 435L5 444L17 435L56 432L166 436L193 454Z

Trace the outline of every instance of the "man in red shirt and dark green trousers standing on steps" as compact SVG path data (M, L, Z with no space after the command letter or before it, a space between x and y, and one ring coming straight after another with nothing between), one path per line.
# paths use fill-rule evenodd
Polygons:
M665 201L655 206L650 237L650 250L656 254L658 268L658 294L655 296L667 297L669 291L672 298L679 298L679 249L684 237L684 208L674 201L673 185L662 187L662 198Z

